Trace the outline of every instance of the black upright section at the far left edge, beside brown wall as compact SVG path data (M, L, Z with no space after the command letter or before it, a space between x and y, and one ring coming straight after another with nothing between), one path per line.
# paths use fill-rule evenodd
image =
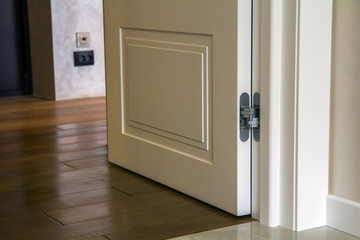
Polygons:
M2 0L0 7L0 97L32 93L26 0Z

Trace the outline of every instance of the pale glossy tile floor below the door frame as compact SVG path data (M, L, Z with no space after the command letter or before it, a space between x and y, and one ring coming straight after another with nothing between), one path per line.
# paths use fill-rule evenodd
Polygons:
M293 232L281 227L268 228L258 222L251 222L172 240L360 240L360 238L330 227Z

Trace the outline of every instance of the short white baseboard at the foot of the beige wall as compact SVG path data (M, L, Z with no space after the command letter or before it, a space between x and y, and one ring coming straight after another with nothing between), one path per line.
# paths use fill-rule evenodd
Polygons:
M360 203L328 195L327 225L360 237Z

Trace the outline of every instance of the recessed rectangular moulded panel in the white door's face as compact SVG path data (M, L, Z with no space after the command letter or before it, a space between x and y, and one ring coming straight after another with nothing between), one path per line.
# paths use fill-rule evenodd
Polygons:
M211 37L134 29L121 35L123 134L212 162Z

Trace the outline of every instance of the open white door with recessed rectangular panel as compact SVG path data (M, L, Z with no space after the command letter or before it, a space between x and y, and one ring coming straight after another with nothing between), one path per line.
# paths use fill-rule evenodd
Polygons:
M251 0L105 0L109 160L250 213Z

